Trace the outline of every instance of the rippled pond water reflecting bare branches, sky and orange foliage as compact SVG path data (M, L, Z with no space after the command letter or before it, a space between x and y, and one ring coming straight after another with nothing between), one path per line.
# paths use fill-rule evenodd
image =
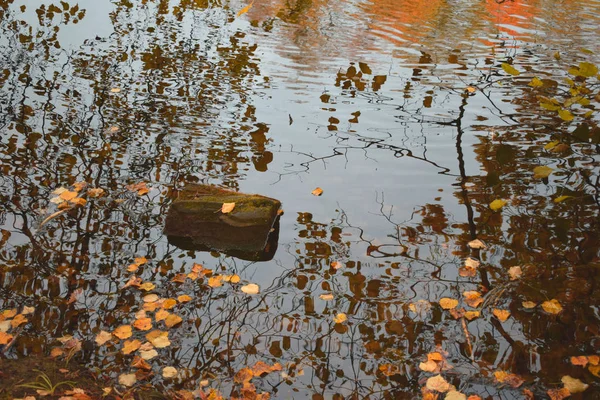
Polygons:
M123 289L136 275L192 297L138 385L208 379L235 397L235 373L264 361L285 372L252 381L272 398L410 399L440 351L467 395L544 398L565 375L590 385L574 397L600 395L598 370L570 361L600 354L599 83L568 73L598 62L600 2L274 0L239 17L245 3L51 4L0 1L0 312L35 307L4 356L73 335L116 384L134 354L94 338L136 319L146 293ZM564 121L538 96L589 103ZM46 222L52 192L83 181L105 195L82 189L87 204ZM140 182L147 194L127 189ZM190 182L279 199L273 260L169 244L167 210ZM481 266L461 276L469 256ZM241 284L172 282L194 263ZM439 305L474 310L465 291L485 300L470 322ZM540 306L551 299L560 313Z

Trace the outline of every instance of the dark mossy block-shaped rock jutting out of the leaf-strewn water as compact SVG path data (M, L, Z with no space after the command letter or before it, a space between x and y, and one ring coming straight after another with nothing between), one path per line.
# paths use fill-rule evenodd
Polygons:
M221 212L223 203L235 203ZM179 192L165 224L169 243L186 250L217 250L251 261L273 258L279 238L279 200L211 185L190 184Z

